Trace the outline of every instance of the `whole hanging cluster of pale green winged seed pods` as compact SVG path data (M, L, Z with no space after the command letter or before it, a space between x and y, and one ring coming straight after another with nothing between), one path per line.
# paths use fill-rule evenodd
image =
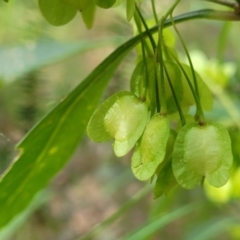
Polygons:
M192 71L189 66L179 66L173 61L164 61L164 66L164 81L159 81L155 60L140 61L131 77L131 92L116 93L100 105L89 121L88 136L95 142L113 139L118 157L135 146L131 159L133 174L139 180L157 176L155 197L176 184L191 189L204 179L212 186L223 186L232 166L229 134L219 123L199 122L194 118L178 127L177 103L185 115L195 104L186 80L188 77L193 84ZM211 110L211 92L195 74L201 106ZM160 111L159 102L162 82L165 113Z

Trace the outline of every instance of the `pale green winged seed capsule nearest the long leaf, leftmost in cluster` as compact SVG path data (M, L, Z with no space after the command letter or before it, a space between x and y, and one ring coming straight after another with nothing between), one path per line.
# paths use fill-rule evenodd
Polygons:
M87 133L95 142L114 139L114 152L120 157L133 148L147 120L147 104L130 92L120 92L107 99L94 112Z

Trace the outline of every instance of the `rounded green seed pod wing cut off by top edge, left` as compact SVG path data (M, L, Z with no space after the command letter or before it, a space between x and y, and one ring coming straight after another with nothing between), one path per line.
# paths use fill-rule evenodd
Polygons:
M38 0L43 16L54 26L70 22L77 14L77 8L60 0Z

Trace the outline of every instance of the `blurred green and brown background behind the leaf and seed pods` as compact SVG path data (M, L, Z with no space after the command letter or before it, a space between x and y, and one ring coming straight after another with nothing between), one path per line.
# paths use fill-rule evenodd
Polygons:
M168 6L168 1L157 1L162 13ZM176 14L203 7L211 4L184 1ZM143 9L151 18L150 6ZM133 28L121 6L99 9L90 31L80 16L63 27L49 25L36 0L1 1L0 12L3 173L17 154L16 143L114 48L129 39ZM0 240L240 239L239 23L194 20L180 24L179 30L196 70L214 94L214 109L207 117L224 124L232 138L235 164L228 184L220 189L208 185L191 191L175 188L154 200L151 186L134 179L130 154L118 159L110 143L97 145L85 137L49 187L1 229ZM178 43L177 49L181 56ZM135 62L136 53L131 52L104 98L129 89Z

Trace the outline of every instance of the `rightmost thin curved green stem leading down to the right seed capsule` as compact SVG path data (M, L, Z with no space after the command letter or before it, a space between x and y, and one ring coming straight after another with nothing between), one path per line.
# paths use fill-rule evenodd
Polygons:
M192 76L193 76L193 82L194 82L194 88L195 88L195 92L196 92L196 106L197 106L197 109L196 109L196 119L199 119L199 122L205 122L205 117L204 117L204 113L203 113L203 110L202 110L202 106L201 106L201 102L200 102L200 95L199 95L199 89L198 89L198 84L197 84L197 77L196 77L196 73L195 73L195 70L194 70L194 67L193 67L193 63L192 63L192 60L191 60L191 57L190 57L190 54L188 52L188 49L187 49L187 46L180 34L180 32L178 31L177 27L175 26L174 22L173 22L173 18L172 18L172 13L170 14L171 16L171 20L172 20L172 24L173 24L173 28L175 30L175 32L177 33L178 35L178 38L183 46L183 49L185 51L185 54L188 58L188 62L189 62L189 65L191 67L191 71L192 71Z

